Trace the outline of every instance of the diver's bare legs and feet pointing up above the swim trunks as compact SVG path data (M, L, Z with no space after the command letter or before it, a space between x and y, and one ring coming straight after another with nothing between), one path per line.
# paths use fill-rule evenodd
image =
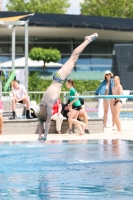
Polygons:
M82 51L85 49L85 47L91 43L93 40L95 40L98 37L97 33L94 33L90 36L86 36L84 42L79 45L72 53L69 60L61 67L61 69L58 71L60 77L62 80L65 80L71 73L71 71L74 68L74 64L76 63L79 55L82 53Z

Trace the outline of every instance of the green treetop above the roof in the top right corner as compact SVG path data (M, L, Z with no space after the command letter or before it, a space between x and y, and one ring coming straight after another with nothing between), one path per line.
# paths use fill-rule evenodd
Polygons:
M84 0L80 3L83 15L133 18L132 0Z

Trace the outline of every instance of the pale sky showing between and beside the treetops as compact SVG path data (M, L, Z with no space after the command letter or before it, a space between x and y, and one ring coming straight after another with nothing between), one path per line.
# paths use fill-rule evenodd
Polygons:
M79 8L79 2L83 2L84 0L69 0L71 3L71 7L69 8L67 14L80 14L80 8ZM8 3L8 0L2 0L2 8L3 11L6 10L6 4Z

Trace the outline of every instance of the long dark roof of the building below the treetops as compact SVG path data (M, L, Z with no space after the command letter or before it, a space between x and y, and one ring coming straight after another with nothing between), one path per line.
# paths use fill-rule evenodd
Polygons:
M0 12L0 18L28 14L26 12ZM29 26L39 27L62 27L62 28L90 28L116 31L133 31L133 19L69 15L69 14L46 14L35 13L30 18Z

